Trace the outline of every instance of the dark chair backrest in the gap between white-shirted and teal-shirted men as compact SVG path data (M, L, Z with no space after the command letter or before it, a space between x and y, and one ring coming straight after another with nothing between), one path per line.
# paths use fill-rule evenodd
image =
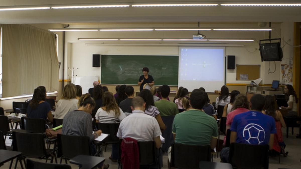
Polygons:
M162 150L167 152L168 148L173 143L173 135L172 135L172 123L173 119L175 118L174 115L171 116L161 116L163 123L166 126L166 129L162 132L162 137L165 138L165 143L162 146Z

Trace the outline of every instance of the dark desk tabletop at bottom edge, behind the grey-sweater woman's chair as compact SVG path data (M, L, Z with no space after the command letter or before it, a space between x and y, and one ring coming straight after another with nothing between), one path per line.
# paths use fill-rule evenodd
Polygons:
M91 155L78 155L70 159L70 163L79 165L80 169L92 169L103 162L105 158Z

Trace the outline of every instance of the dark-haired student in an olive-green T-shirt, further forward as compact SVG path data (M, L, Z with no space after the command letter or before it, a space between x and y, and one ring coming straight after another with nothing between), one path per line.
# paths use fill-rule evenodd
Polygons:
M168 115L176 115L179 113L178 106L167 100L167 97L170 93L170 88L168 85L164 84L159 87L160 94L162 96L162 100L156 101L155 106L160 111L161 116L168 116Z

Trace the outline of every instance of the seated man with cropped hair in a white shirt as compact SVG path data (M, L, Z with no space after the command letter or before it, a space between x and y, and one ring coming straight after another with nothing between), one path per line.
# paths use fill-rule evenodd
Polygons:
M132 114L120 122L117 137L120 139L131 137L137 141L154 141L159 149L161 147L160 127L155 118L144 113L145 102L142 97L133 98L132 109Z

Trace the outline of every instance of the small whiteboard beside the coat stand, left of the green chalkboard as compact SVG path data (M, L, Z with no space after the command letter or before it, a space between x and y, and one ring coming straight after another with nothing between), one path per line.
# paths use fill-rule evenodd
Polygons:
M82 87L82 94L88 93L89 88L93 88L93 82L98 81L97 76L84 76L84 77L75 77L73 84L80 85Z

